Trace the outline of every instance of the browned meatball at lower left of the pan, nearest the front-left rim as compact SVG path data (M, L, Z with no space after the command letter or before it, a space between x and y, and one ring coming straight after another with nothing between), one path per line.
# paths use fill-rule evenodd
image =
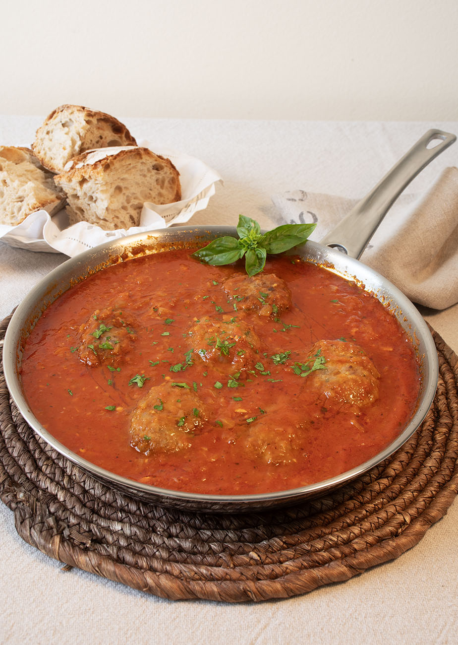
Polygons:
M164 382L153 386L133 411L131 446L146 455L184 450L206 420L205 405L193 388Z

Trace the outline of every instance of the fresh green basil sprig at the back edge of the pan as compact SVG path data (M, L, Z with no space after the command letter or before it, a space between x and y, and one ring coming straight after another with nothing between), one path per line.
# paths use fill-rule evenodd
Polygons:
M316 224L283 224L261 233L261 227L254 219L239 215L237 224L238 238L225 235L200 248L192 257L220 266L232 264L245 255L245 269L248 275L256 275L263 270L267 253L283 253L297 244L304 243Z

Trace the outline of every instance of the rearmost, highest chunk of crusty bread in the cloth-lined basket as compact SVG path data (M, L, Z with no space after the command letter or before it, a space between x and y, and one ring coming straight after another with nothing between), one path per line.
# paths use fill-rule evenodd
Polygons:
M72 157L86 150L136 145L126 126L110 114L82 105L61 105L44 119L32 148L45 168L62 172Z

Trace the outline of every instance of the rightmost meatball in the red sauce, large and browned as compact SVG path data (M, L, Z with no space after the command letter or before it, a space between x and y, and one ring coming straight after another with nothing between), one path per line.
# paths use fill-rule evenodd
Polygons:
M307 374L305 387L313 388L317 397L324 397L338 406L358 408L378 398L380 374L359 345L345 341L318 341L312 346L310 357L305 363L305 371L312 366L316 369Z

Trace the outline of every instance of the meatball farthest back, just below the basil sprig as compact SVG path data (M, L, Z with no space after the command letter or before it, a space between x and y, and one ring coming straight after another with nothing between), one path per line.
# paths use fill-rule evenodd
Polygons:
M224 281L223 289L238 310L257 311L260 316L277 316L291 306L285 281L274 273L235 275Z

